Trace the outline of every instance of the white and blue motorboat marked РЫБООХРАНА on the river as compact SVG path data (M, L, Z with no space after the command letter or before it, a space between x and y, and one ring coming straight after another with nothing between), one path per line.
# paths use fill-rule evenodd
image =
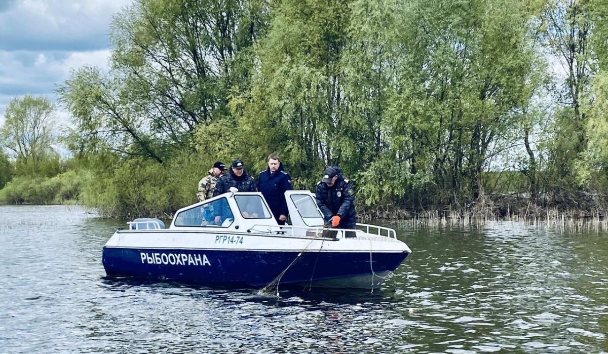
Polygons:
M389 227L327 227L308 190L285 198L285 225L261 193L235 191L179 209L166 228L153 218L130 221L103 247L103 267L108 277L374 289L411 253Z

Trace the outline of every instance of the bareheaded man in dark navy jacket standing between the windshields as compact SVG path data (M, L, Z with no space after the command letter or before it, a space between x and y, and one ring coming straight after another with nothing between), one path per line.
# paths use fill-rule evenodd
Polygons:
M291 177L276 154L268 156L268 168L260 172L258 190L268 203L272 215L279 225L285 225L289 210L285 201L285 191L291 190Z

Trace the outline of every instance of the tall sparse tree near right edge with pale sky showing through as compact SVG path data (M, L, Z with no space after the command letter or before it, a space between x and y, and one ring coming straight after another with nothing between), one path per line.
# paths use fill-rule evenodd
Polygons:
M590 103L595 54L591 43L592 5L581 0L551 0L544 10L546 45L558 64L558 105L554 107L553 137L547 141L550 175L547 192L559 204L576 205L576 175L587 146L587 112Z

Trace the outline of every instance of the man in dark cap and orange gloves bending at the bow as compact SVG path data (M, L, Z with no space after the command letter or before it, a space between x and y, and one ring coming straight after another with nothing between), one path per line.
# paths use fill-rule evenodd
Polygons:
M340 168L330 166L323 171L323 178L317 183L317 205L325 220L339 229L354 229L357 223L357 212L354 209L354 190ZM355 237L354 232L347 232L346 237Z

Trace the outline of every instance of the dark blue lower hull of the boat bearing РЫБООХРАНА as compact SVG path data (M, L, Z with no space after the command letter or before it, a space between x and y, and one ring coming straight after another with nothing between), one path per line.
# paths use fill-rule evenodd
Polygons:
M286 268L281 283L310 283L394 271L408 252L266 252L217 249L103 248L110 277L264 286ZM294 262L295 260L295 262ZM293 264L292 264L293 262ZM291 265L291 266L290 266Z

